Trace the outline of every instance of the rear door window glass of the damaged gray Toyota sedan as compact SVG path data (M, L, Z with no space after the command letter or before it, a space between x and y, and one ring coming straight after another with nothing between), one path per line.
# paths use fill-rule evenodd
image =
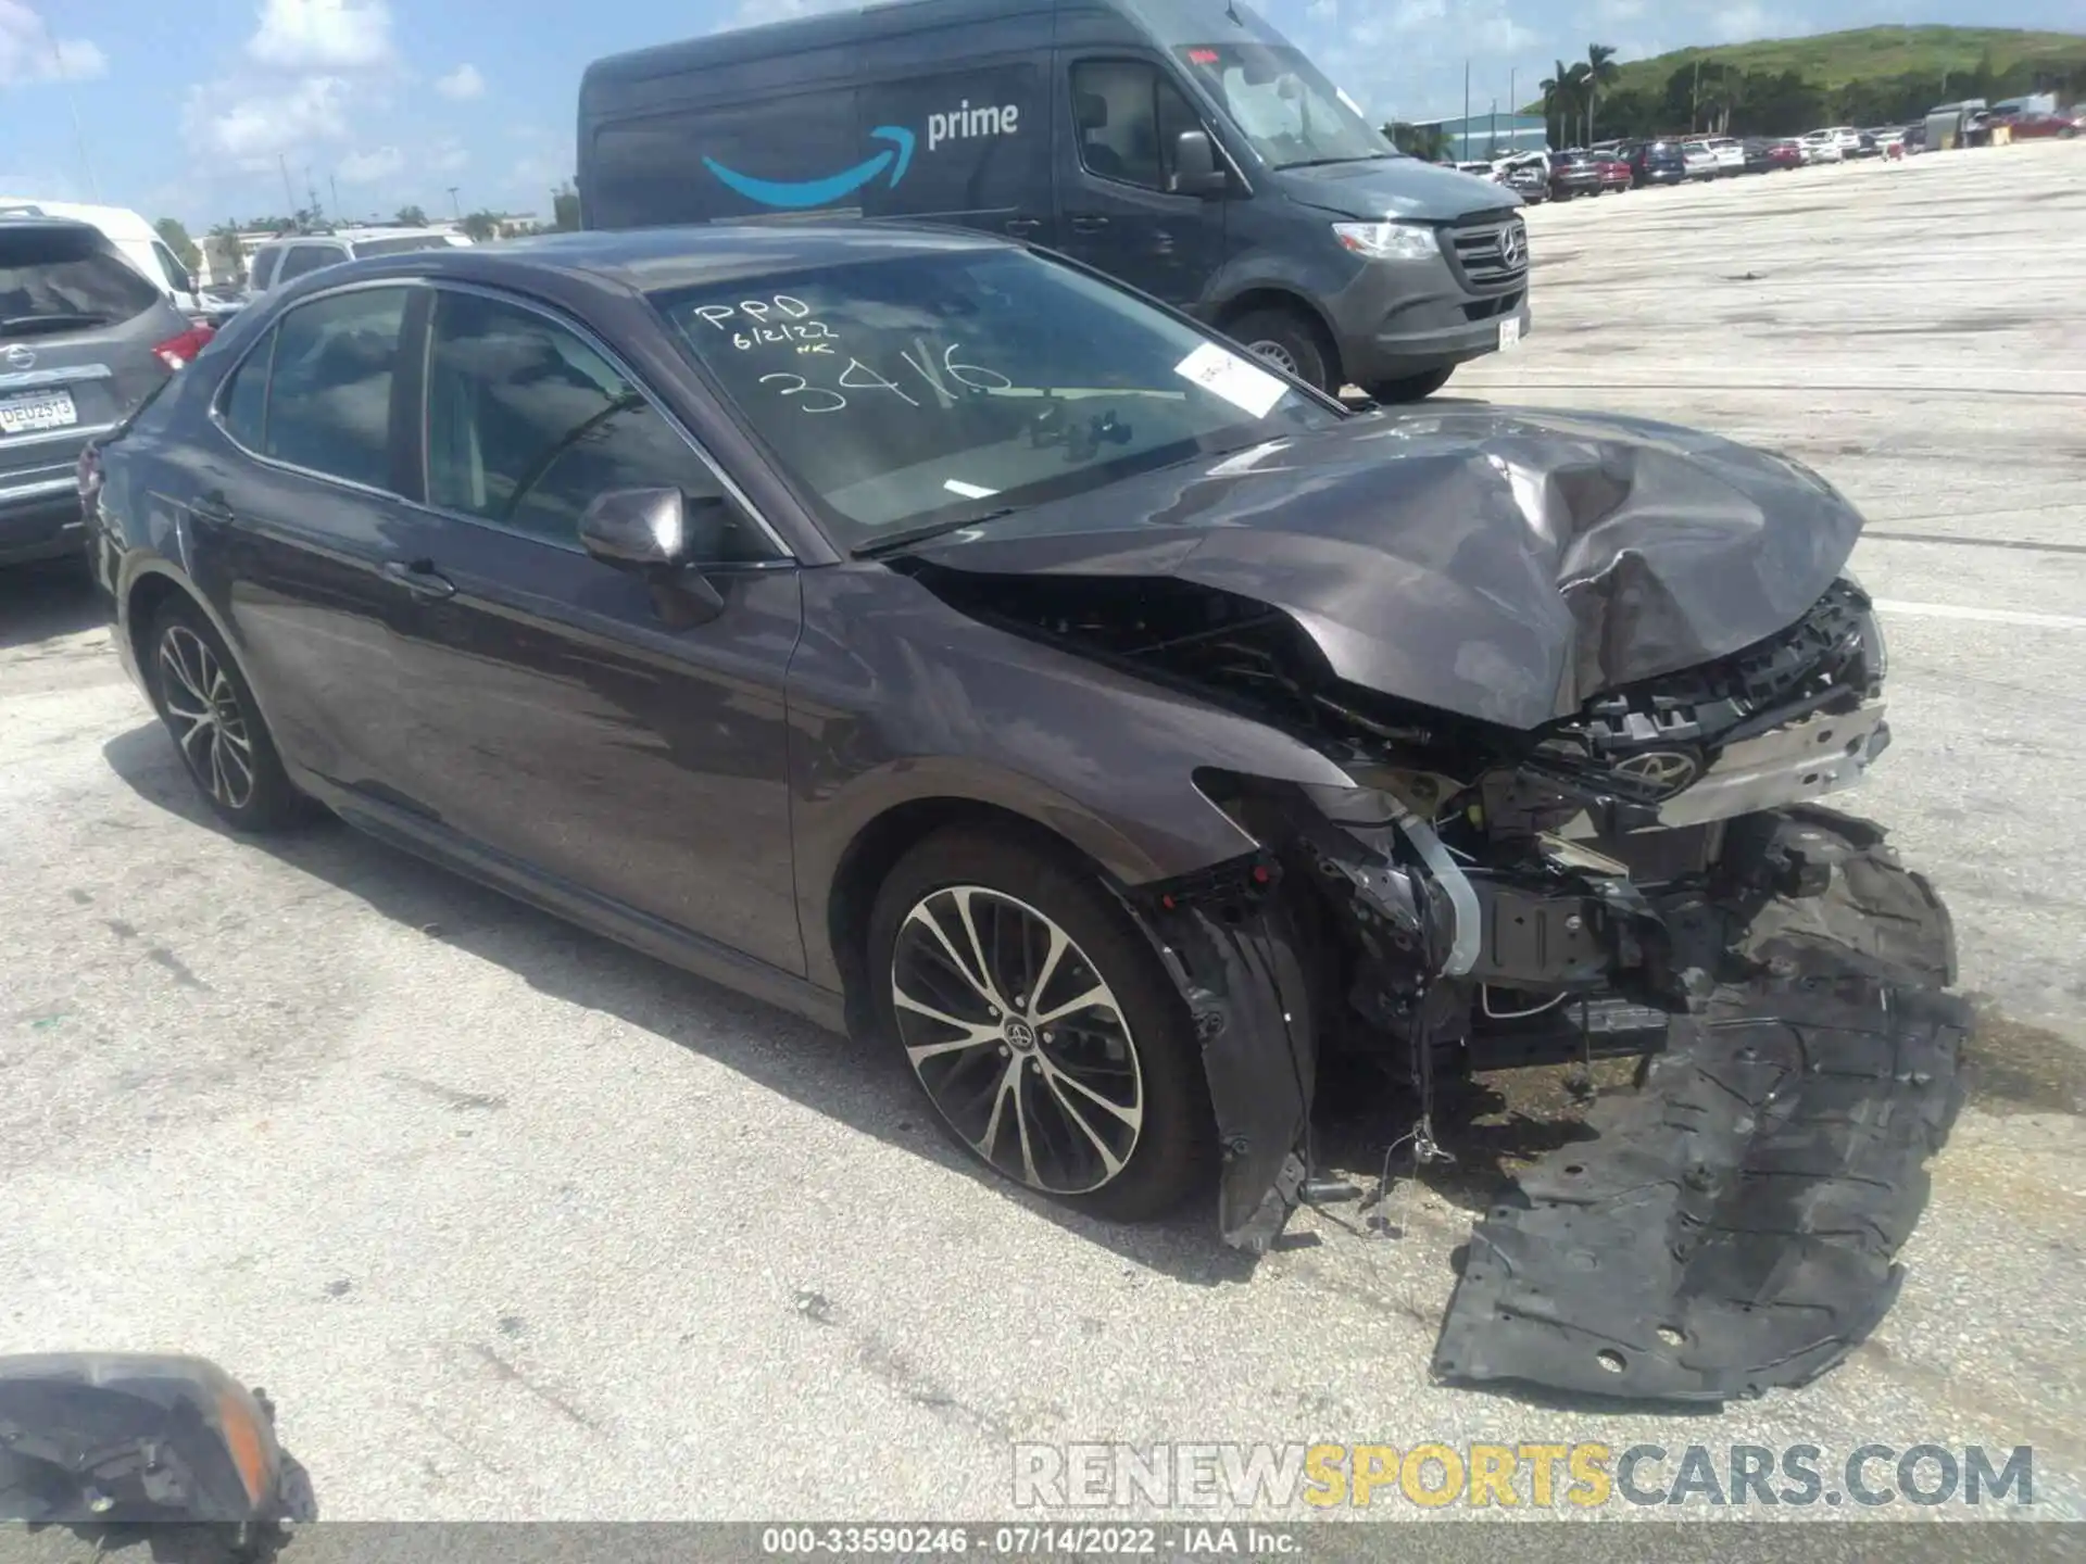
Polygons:
M350 484L392 486L390 398L405 300L405 288L357 288L277 321L269 457Z

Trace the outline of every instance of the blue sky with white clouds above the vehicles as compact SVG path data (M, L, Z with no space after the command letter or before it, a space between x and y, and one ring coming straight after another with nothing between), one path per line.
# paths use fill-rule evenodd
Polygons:
M0 194L190 227L286 206L549 211L580 71L830 0L0 0ZM1210 0L1212 10L1222 0ZM1587 42L1625 58L1877 21L2082 25L2082 0L1260 0L1375 117L1506 106ZM1517 79L1519 77L1519 79ZM75 136L73 113L79 117ZM81 140L86 148L81 152ZM309 173L307 173L309 171ZM92 175L92 190L90 190ZM338 190L338 206L334 192Z

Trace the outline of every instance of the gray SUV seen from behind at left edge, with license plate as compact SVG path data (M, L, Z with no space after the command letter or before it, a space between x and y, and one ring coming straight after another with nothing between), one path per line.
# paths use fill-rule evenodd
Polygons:
M79 453L209 340L98 227L0 217L0 565L83 559Z

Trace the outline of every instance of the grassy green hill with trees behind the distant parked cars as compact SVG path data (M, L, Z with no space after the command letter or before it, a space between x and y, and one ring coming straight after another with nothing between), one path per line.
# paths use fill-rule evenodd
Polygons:
M1683 129L1784 136L1832 123L1902 123L1938 102L2021 92L2086 96L2086 33L1861 27L1681 48L1619 65L1594 117L1600 136ZM1552 123L1569 115L1583 127L1583 83L1525 113L1544 115L1546 106Z

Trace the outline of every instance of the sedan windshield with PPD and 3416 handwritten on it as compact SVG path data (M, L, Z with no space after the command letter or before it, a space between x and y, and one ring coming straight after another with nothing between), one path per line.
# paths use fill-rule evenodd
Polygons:
M849 548L1341 417L1022 250L864 261L653 302Z

